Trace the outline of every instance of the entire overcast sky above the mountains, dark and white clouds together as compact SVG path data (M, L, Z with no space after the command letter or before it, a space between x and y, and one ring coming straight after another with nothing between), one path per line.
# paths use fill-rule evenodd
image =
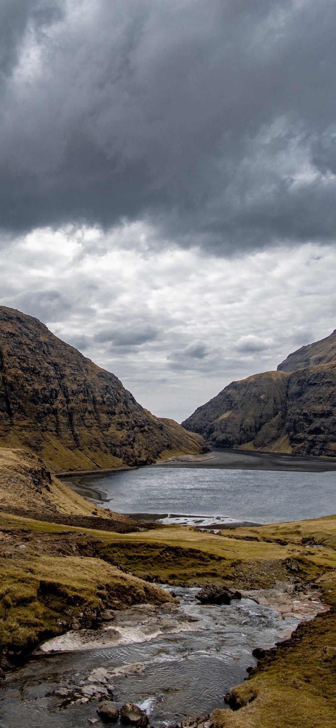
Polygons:
M335 0L2 0L0 303L178 421L336 327Z

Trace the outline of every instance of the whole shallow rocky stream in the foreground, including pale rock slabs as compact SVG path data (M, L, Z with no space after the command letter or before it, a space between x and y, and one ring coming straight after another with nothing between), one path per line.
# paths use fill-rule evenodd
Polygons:
M203 606L196 601L198 591L175 587L178 609L135 607L116 615L119 622L104 630L49 641L44 650L69 651L40 651L7 674L0 689L0 727L84 728L97 719L99 698L111 695L119 707L140 705L159 728L187 714L225 707L225 693L255 665L252 649L273 646L298 620L249 598Z

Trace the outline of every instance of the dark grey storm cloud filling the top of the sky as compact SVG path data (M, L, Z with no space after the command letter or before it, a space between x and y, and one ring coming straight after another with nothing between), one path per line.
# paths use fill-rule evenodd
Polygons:
M335 1L3 0L1 15L4 229L143 218L223 252L335 236Z

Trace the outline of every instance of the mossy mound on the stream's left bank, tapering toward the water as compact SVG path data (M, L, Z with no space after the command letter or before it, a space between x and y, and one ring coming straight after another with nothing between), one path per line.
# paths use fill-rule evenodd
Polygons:
M73 622L89 628L97 609L174 601L159 587L141 582L95 558L29 558L0 565L0 649L28 652L63 633Z

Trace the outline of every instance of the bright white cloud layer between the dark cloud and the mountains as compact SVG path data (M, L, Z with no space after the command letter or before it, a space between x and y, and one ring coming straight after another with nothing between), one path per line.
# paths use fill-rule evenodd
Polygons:
M155 253L155 239L140 222L108 234L36 230L3 250L0 303L39 317L178 421L336 326L332 246L215 258L173 245Z

